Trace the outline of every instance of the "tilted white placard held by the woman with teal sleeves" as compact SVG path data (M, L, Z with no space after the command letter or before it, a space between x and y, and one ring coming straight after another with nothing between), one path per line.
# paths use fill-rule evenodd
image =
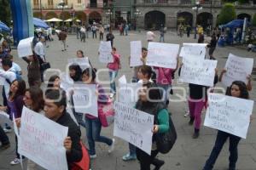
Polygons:
M133 107L114 103L113 135L151 154L154 116Z

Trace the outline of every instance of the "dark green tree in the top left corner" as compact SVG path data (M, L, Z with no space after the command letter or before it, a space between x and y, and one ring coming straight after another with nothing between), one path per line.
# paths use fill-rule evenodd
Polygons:
M11 24L9 0L0 0L0 20L7 26Z

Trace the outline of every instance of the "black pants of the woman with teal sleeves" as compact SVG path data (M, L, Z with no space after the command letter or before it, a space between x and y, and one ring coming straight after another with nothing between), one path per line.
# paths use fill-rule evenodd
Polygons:
M155 156L157 156L158 150L151 150L151 156L149 156L143 150L136 148L136 155L138 161L140 161L141 170L150 170L150 165L155 165L155 161L158 161Z

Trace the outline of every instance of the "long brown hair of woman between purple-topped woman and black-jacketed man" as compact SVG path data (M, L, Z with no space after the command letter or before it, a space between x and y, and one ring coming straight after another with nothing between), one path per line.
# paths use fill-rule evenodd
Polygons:
M39 112L44 110L44 97L42 89L34 86L26 89L26 92L29 92L32 99L32 111Z

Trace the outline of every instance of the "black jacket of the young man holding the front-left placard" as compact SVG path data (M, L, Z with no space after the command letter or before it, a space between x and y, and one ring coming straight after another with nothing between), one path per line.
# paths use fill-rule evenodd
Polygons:
M64 111L63 115L56 121L62 126L68 127L67 136L72 140L72 149L70 153L67 153L67 165L68 169L71 168L71 164L75 161L81 161L83 153L80 145L81 131L71 116Z

